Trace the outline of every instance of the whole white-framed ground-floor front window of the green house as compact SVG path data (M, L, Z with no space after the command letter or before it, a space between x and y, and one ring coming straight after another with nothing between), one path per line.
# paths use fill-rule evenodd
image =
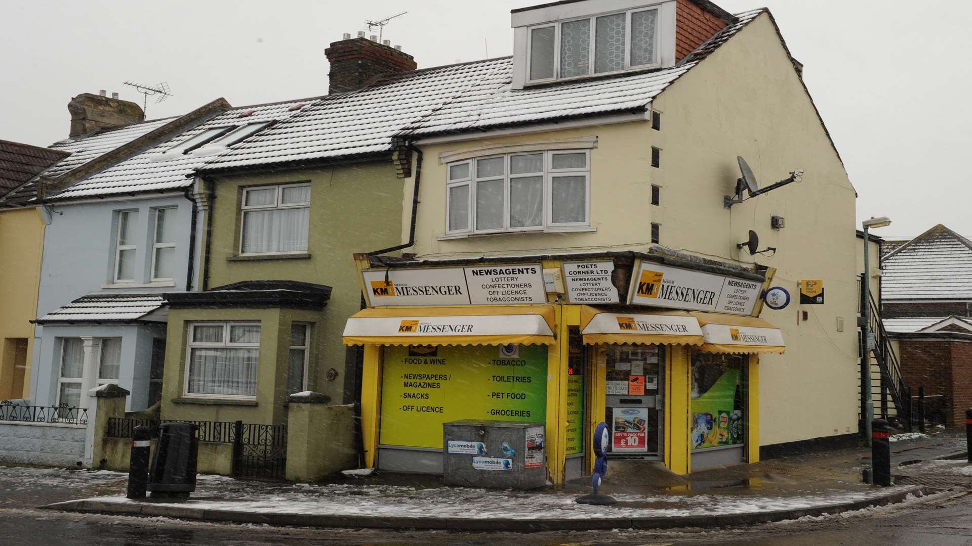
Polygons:
M259 323L193 323L186 395L255 398Z

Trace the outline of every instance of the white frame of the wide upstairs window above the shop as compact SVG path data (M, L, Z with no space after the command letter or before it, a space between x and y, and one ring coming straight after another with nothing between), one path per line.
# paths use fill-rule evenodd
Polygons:
M532 154L542 154L542 168L539 173L525 173L525 174L510 174L510 157L513 155L532 155ZM559 154L584 154L585 167L581 169L554 169L553 168L553 157ZM486 177L483 180L479 180L476 177L476 161L482 159L491 159L496 157L504 157L503 161L503 226L494 229L476 229L476 184L479 182L489 182L499 180L500 177ZM455 181L448 180L449 173L453 166L468 163L469 164L469 178L457 179ZM510 181L516 178L526 178L526 177L536 177L540 176L542 179L543 189L543 215L540 225L529 226L529 227L510 227L509 225L509 192L510 192ZM585 195L584 195L584 221L583 222L558 222L554 223L552 218L553 210L553 178L558 176L583 176L585 182ZM450 189L469 186L469 203L467 204L469 210L469 227L465 229L449 229L450 216L452 214L452 201ZM474 157L470 159L463 159L460 161L453 161L446 164L446 185L445 185L445 233L446 236L450 235L479 235L479 234L490 234L490 233L522 233L522 232L545 232L545 231L560 231L560 230L574 230L577 228L587 228L591 223L591 153L590 150L548 150L548 151L535 151L535 152L512 152L508 154L490 154L483 155L481 157Z

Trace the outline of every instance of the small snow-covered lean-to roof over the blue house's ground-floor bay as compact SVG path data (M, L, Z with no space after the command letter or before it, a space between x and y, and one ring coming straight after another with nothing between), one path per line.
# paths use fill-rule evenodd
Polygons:
M159 294L90 294L37 319L51 323L131 323L165 305Z

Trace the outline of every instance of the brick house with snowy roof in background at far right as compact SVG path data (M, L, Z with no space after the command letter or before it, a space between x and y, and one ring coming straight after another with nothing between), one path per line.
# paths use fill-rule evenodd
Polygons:
M943 224L882 259L881 307L913 395L926 416L961 427L972 407L972 241Z

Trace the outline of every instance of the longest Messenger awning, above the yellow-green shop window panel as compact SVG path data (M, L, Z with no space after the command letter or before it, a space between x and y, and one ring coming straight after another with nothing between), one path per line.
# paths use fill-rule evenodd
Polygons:
M344 326L345 345L552 345L549 305L364 309Z

